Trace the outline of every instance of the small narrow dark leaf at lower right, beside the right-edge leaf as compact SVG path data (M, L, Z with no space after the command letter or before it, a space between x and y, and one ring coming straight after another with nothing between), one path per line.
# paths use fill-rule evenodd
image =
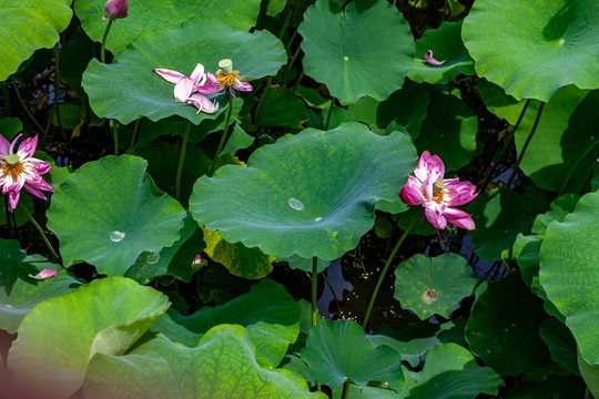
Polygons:
M559 362L571 374L580 375L580 371L578 371L576 340L568 327L550 317L540 327L539 335L549 348L551 360Z

